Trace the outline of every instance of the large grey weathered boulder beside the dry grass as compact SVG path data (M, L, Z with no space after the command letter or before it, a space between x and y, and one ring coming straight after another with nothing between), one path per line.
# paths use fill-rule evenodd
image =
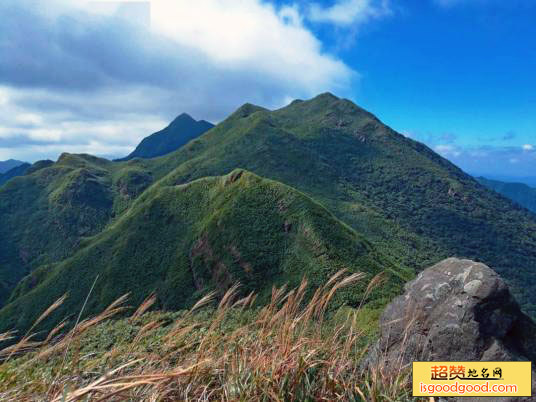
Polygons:
M380 326L367 364L387 372L419 360L536 361L535 323L497 273L470 260L425 269L387 306Z

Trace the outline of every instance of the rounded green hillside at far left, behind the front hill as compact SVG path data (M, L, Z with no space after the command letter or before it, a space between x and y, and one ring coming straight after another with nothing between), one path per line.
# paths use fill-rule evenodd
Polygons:
M71 255L151 182L141 160L63 154L0 187L0 306L24 275Z

